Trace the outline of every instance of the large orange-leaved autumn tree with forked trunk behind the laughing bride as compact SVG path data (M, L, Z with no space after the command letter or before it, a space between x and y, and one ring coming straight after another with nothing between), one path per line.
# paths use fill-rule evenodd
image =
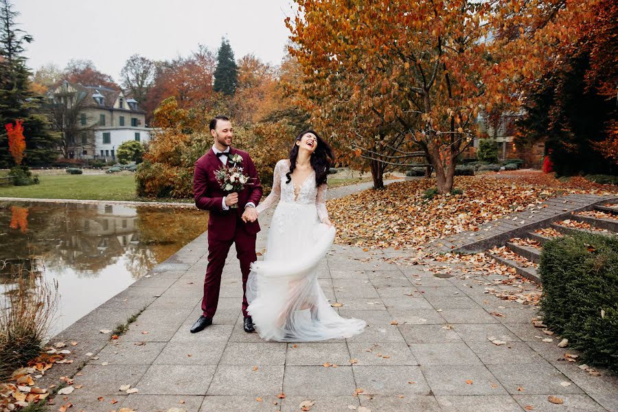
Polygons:
M424 150L449 192L479 113L516 113L521 84L562 60L556 44L577 38L598 1L298 1L286 23L301 103L350 155L380 158L401 140L382 161Z

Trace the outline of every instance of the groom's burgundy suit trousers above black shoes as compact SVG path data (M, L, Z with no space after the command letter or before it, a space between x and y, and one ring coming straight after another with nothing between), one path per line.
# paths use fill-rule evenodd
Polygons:
M248 317L247 307L247 279L249 278L250 266L258 257L255 255L255 234L245 231L245 225L240 218L236 222L236 233L231 240L208 240L208 266L204 277L204 297L202 298L202 312L205 317L214 317L219 301L219 289L221 286L221 274L227 253L232 243L236 244L236 257L240 260L240 272L242 273L242 315Z

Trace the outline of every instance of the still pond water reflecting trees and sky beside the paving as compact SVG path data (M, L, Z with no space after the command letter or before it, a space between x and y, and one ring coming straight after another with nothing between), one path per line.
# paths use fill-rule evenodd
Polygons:
M23 268L58 282L50 336L207 229L204 211L105 203L0 202L0 293Z

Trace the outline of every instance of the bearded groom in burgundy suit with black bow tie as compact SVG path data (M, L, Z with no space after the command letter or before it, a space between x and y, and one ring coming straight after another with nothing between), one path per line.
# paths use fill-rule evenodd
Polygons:
M193 195L198 209L209 211L208 219L208 266L204 279L204 297L202 299L202 316L191 327L191 332L200 332L212 324L217 310L221 273L225 259L232 243L236 243L236 256L240 260L242 273L242 316L245 332L253 332L253 322L247 314L247 278L249 266L257 260L255 255L255 238L258 224L258 205L262 198L262 185L255 165L247 152L231 147L233 129L229 118L218 115L210 122L210 134L214 145L195 162L193 178ZM215 179L214 172L233 163L234 155L240 155L238 163L244 174L249 176L249 183L239 193L226 194ZM238 205L238 208L232 208Z

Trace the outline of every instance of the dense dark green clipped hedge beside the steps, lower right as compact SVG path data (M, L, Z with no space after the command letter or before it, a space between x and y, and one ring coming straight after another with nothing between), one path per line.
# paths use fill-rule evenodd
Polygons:
M551 240L538 272L545 323L586 362L618 372L618 238L578 233Z

